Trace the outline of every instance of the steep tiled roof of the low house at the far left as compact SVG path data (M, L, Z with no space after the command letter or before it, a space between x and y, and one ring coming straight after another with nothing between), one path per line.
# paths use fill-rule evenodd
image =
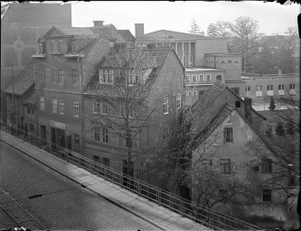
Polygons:
M22 96L34 84L34 60L29 62L21 73L14 78L14 95ZM5 93L13 94L13 83L5 88Z

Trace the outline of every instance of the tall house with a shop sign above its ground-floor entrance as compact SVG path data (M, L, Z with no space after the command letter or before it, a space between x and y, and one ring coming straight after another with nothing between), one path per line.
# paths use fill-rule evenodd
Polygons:
M41 137L83 152L82 90L114 46L127 46L127 40L102 21L91 28L52 27L38 40L33 59Z

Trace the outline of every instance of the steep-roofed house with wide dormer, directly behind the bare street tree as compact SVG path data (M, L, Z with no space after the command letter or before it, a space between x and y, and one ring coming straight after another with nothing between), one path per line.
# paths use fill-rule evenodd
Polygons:
M87 156L160 184L167 140L183 110L184 69L172 48L112 51L84 97ZM131 158L129 158L131 155Z

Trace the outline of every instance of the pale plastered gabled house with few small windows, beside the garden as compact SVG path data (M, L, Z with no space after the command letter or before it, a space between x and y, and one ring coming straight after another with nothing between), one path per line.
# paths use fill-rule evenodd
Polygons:
M262 138L265 117L252 109L250 98L243 100L217 82L186 116L191 122L193 203L230 209L245 218L268 215L285 220L285 190L265 182L274 178L284 187L289 183L284 171L279 171L277 156Z

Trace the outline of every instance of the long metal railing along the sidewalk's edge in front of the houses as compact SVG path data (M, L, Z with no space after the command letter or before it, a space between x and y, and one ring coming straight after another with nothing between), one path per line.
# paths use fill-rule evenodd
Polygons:
M135 192L141 197L150 199L165 208L169 208L174 212L181 214L183 217L188 217L203 226L207 226L215 230L261 230L259 226L251 225L238 218L230 217L213 209L193 206L191 201L174 195L171 192L159 189L142 180L137 180L99 162L94 162L77 152L72 152L71 150L61 147L55 143L46 141L33 133L27 133L23 130L16 129L4 122L0 123L1 130L6 133L13 134L19 139L38 146L47 152L51 152L67 162L76 164L106 180Z

